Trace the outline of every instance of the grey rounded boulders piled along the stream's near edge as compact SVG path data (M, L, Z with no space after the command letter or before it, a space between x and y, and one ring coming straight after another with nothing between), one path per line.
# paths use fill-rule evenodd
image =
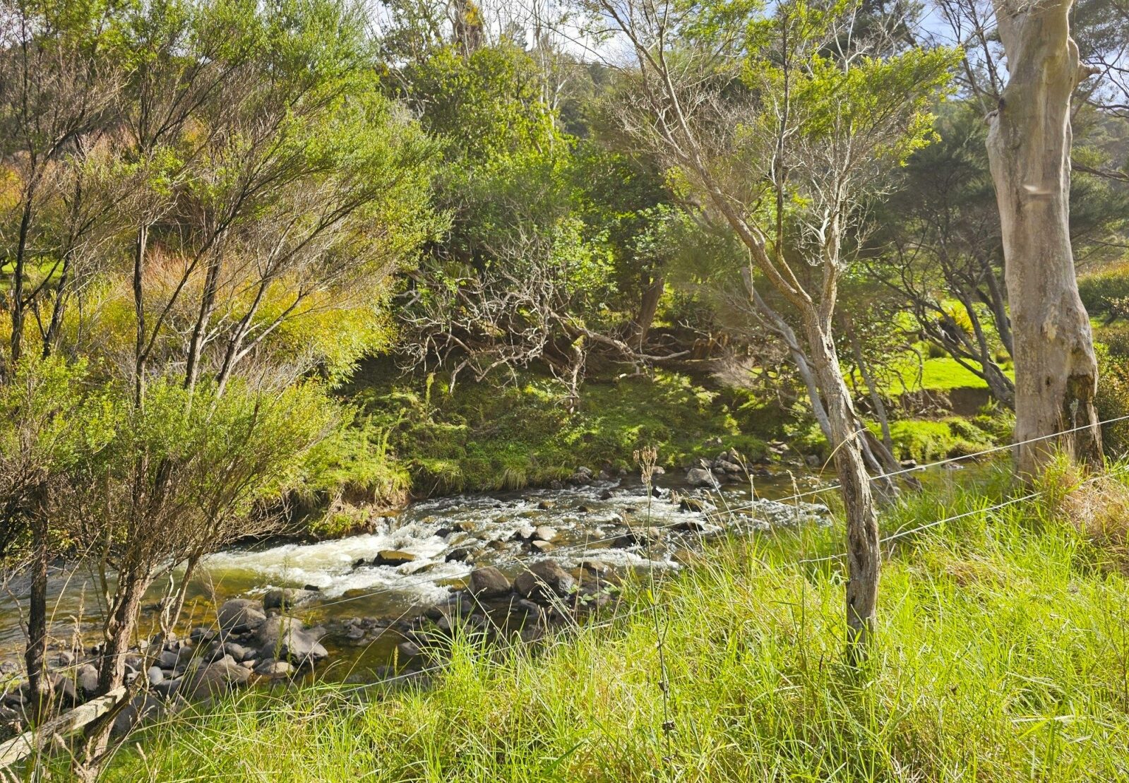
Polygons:
M393 632L397 653L409 670L435 661L444 644L440 636L456 626L497 634L518 631L523 640L613 600L614 577L598 566L585 566L578 580L558 563L531 564L513 581L496 568L473 571L464 588L453 589L448 600L411 619L350 618L331 628L344 640L367 643L375 635ZM211 627L192 628L185 639L172 639L159 652L138 650L125 657L128 683L145 678L145 687L119 714L114 732L129 732L141 720L189 703L213 698L255 681L288 679L312 670L329 658L322 644L327 628L307 627L287 609L309 604L313 590L271 590L263 600L233 598L219 607ZM145 652L146 654L141 654ZM60 710L71 709L97 695L97 648L77 661L70 653L51 659L49 676ZM148 665L148 668L146 668ZM391 668L388 675L395 674ZM27 721L30 703L26 681L10 680L0 697L0 737L18 733Z

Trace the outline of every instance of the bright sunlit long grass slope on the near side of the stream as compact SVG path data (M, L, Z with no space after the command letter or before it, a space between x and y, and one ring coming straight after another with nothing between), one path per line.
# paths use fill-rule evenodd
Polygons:
M884 529L982 509L1001 487L918 494ZM1129 586L1103 549L1047 502L903 539L877 653L852 672L840 564L795 564L840 538L729 542L660 587L668 746L644 615L536 654L458 644L432 690L376 704L325 688L234 700L150 732L111 778L1126 780Z

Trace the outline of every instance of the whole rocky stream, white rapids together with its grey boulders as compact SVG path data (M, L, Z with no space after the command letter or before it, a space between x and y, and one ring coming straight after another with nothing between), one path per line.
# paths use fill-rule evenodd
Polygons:
M419 670L444 656L456 626L490 639L540 636L605 612L632 571L677 570L726 530L828 521L823 505L764 498L791 492L794 482L759 477L754 500L747 483L721 469L732 463L716 461L710 481L724 485L709 492L665 475L648 491L638 480L581 474L560 490L415 503L368 534L211 555L196 568L176 633L160 649L139 640L126 656L126 679L147 681L148 693L115 727L124 733L138 720L248 685L307 675L371 684ZM718 507L741 511L718 514ZM47 663L60 710L97 694L91 643L100 615L85 608L93 590L79 569L49 580L59 641ZM154 627L160 597L159 586L147 597L142 628ZM0 631L0 741L27 724L29 694L16 674L21 641L15 623Z

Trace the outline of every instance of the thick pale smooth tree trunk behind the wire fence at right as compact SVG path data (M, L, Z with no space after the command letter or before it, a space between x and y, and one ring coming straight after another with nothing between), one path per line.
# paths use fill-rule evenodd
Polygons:
M1097 361L1070 248L1070 96L1087 71L1073 0L994 0L1008 83L989 118L1015 341L1015 439L1031 478L1058 450L1101 459ZM1061 437L1057 432L1082 428ZM1033 438L1043 438L1036 442Z

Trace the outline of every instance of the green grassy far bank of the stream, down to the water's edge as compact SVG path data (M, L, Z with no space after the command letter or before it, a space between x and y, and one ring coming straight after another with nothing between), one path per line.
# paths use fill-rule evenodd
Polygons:
M725 385L710 367L593 372L570 410L564 385L533 371L463 379L452 390L444 376L401 376L387 360L370 360L341 389L352 421L310 466L297 530L314 538L364 531L409 499L553 487L581 467L594 476L634 474L632 455L646 447L671 473L727 449L780 473L824 465L826 441L803 401ZM972 454L1010 436L1008 412L951 413L946 395L982 389L954 389L938 372L922 379L931 384L918 389L933 395L929 404L892 423L900 459Z

